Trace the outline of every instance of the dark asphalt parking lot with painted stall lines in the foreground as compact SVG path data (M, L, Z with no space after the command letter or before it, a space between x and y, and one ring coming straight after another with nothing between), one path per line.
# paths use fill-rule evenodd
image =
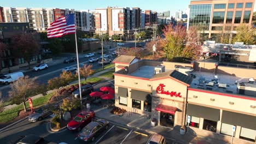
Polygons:
M20 136L25 135L38 135L44 137L47 142L53 143L81 143L78 140L78 132L72 132L63 129L59 132L52 132L49 129L49 122L51 117L44 119L40 122L31 123L27 119L19 124L0 133L0 143L10 143ZM124 125L109 123L107 130L104 130L97 136L94 142L90 143L125 143L125 144L142 144L146 143L152 134L146 131L139 131ZM82 142L83 143L83 142ZM172 144L171 139L167 139L167 143Z

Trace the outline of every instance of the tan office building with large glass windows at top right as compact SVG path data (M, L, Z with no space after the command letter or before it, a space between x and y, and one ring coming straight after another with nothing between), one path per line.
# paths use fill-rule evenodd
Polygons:
M188 27L202 27L208 38L222 31L232 37L240 23L251 25L254 3L254 0L191 1Z

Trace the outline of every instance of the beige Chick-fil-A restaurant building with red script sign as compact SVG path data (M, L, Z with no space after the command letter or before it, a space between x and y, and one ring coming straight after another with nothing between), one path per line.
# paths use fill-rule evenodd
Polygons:
M255 142L256 69L211 62L159 62L119 56L115 63L115 106L150 115L158 125L187 125L195 133L222 134ZM210 131L210 132L209 132Z

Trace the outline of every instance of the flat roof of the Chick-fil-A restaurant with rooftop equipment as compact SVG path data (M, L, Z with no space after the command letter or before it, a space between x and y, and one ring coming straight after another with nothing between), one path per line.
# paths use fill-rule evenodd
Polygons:
M191 88L256 98L256 77L241 77L236 76L236 74L228 75L228 73L215 74L197 71L189 67L189 65L190 64L158 62L143 59L130 64L129 68L126 67L125 69L116 71L116 73L150 80L171 77L189 85ZM159 66L164 66L165 70L160 71L160 73L155 73L158 71L155 68ZM193 67L193 65L191 66ZM248 75L253 76L254 74ZM241 91L239 88L241 86L245 87L241 89L249 89L248 92Z

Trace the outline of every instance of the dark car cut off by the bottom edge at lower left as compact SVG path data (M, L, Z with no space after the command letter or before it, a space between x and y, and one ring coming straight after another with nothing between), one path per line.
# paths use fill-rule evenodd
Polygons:
M17 144L39 144L39 143L43 143L44 142L44 138L43 137L39 137L36 135L27 135L27 136L22 136L20 140L14 142Z

